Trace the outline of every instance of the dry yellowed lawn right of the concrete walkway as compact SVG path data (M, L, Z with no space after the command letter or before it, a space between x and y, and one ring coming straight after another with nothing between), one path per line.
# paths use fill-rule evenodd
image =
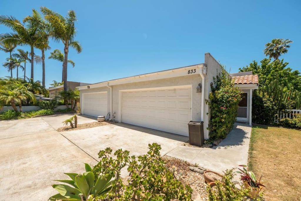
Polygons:
M253 127L249 168L262 175L266 200L301 200L301 131Z

